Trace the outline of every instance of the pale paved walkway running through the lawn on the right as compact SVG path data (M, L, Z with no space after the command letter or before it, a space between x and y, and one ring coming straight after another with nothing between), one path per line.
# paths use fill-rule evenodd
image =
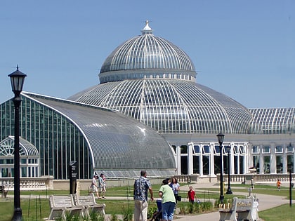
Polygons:
M192 185L194 189L198 188L218 188L218 186L214 186L214 184L195 184ZM247 195L245 192L235 192L235 194L239 195ZM267 210L269 208L273 208L276 206L280 206L283 204L289 203L289 199L284 199L282 196L272 196L272 195L265 195L265 194L256 194L256 197L259 200L258 209L261 210ZM292 201L294 203L294 201ZM175 215L175 220L177 221L192 221L192 220L202 220L202 221L214 221L219 220L219 213L205 213L205 214L199 214L199 215ZM259 220L259 219L258 219Z

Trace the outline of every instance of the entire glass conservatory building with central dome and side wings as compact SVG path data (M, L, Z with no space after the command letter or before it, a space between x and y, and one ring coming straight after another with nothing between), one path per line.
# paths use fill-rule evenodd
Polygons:
M294 173L295 108L248 109L196 79L190 57L146 22L106 58L97 85L67 100L22 93L20 135L37 149L38 174L58 180L69 161L79 162L80 179L93 170L136 177L143 168L149 176L216 177L228 161L231 174ZM13 102L0 111L5 140Z

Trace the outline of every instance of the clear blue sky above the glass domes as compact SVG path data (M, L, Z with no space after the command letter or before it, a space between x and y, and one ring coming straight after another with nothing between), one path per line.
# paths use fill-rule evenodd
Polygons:
M98 84L105 58L140 34L183 49L197 83L246 107L295 107L295 1L0 1L0 103L24 91L68 98Z

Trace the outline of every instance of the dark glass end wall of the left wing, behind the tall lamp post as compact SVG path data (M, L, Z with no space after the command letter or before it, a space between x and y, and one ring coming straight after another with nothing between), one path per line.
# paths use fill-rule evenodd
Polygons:
M0 140L14 134L14 105L8 100L0 105ZM79 129L50 107L22 96L20 137L39 151L39 175L55 179L69 178L70 161L79 161L79 179L92 177L89 147Z

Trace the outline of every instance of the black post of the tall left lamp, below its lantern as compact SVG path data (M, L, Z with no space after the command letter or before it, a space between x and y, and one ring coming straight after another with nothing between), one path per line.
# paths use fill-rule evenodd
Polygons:
M14 213L13 221L22 221L20 208L20 94L15 93L14 103Z

